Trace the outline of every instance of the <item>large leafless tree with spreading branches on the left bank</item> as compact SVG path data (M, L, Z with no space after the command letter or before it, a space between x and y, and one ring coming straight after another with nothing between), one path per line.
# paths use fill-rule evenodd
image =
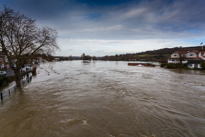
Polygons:
M35 54L52 54L59 49L57 32L49 27L39 28L35 20L6 6L0 10L0 48L8 58L16 80L21 66Z

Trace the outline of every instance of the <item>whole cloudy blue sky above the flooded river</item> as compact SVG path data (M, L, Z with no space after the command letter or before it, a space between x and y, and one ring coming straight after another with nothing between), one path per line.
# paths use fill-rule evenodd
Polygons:
M56 56L137 53L205 43L205 0L0 0L58 32Z

